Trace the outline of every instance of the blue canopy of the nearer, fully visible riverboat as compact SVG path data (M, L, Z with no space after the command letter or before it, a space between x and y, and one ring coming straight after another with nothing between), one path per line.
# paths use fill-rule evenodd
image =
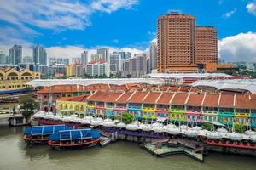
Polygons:
M86 129L73 129L58 131L49 136L50 140L79 140L79 139L99 139L100 133L96 130Z

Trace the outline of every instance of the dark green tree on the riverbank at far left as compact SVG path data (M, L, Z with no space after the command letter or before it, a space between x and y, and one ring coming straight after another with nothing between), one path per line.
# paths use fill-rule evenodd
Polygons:
M33 115L34 110L39 108L39 103L29 95L20 96L18 100L21 114L26 118L26 121L28 121Z

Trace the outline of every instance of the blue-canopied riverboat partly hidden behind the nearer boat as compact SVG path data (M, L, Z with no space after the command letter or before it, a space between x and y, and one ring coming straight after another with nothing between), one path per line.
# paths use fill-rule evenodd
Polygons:
M46 144L49 140L49 135L60 130L70 130L72 127L66 125L46 125L27 127L24 131L23 139L27 144Z

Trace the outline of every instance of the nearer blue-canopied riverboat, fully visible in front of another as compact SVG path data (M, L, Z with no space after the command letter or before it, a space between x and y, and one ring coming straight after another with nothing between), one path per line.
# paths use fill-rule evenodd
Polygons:
M92 147L100 142L100 133L90 128L61 130L49 136L49 147L53 150Z

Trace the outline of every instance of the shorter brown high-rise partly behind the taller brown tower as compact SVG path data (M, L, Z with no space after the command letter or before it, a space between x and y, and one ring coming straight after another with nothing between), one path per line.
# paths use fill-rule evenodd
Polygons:
M217 30L212 26L195 28L195 62L218 63Z

